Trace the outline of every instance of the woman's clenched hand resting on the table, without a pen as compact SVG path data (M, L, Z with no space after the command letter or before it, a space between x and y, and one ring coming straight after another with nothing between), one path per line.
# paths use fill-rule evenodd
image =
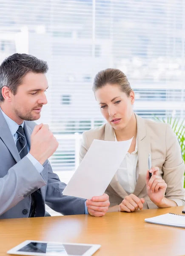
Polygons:
M120 204L121 212L134 212L135 210L142 209L145 199L139 199L136 195L131 194L125 196L122 203Z

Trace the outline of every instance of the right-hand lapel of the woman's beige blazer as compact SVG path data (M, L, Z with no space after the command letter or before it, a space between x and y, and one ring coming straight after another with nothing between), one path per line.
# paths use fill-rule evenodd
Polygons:
M151 154L150 137L146 133L145 120L136 115L137 119L137 143L138 143L138 166L139 175L134 190L138 196L146 185L146 172L148 170L148 154Z

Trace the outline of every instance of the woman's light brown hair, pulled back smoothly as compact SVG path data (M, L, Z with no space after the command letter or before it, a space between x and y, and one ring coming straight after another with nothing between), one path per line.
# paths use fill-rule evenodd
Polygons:
M131 91L133 91L125 74L121 70L115 68L107 68L98 72L94 78L92 90L95 93L96 90L102 88L106 84L119 85L122 92L126 93L127 96L130 96Z

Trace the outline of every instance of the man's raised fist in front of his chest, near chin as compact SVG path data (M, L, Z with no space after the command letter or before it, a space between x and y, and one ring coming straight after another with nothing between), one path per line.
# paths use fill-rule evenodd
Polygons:
M31 134L30 154L42 165L58 148L59 143L48 125L36 125Z

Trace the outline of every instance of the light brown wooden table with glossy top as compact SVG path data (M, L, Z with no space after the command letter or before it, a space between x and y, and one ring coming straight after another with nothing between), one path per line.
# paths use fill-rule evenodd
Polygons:
M95 256L185 255L185 229L145 223L145 218L185 207L110 212L102 218L71 215L0 220L0 256L25 240L101 244Z

